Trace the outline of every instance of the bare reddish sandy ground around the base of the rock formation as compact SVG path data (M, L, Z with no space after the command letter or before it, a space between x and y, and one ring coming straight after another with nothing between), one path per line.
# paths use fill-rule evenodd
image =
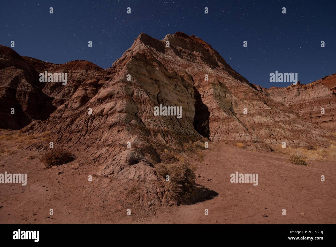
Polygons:
M332 160L299 166L287 162L286 155L210 143L201 162L194 157L189 162L196 166L199 187L212 191L213 197L192 205L147 207L116 201L113 188L118 183L109 178L93 175L88 182L88 174L100 167L83 154L69 164L44 169L41 153L25 146L0 141L0 173L28 177L27 186L0 183L0 223L336 223ZM30 155L36 158L29 160ZM259 184L231 183L230 174L236 171L258 173Z

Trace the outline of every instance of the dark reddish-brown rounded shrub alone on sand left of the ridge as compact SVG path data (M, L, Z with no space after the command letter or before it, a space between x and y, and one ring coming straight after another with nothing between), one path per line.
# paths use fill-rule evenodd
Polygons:
M47 151L42 157L41 162L46 168L69 163L75 159L75 156L68 150L63 148L52 148Z

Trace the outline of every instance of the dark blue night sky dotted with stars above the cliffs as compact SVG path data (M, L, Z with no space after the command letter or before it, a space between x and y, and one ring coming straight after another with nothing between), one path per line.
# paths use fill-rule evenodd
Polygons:
M298 73L304 84L336 73L335 11L332 0L6 0L0 44L10 46L13 40L20 55L52 63L84 59L109 68L141 32L163 39L181 31L209 43L251 83L288 86L269 82L269 73Z

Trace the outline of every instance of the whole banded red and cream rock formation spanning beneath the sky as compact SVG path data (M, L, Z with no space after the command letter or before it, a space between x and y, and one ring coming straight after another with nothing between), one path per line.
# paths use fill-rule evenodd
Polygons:
M1 82L2 118L8 117L11 104L21 106L22 115L15 112L21 122L12 117L16 122L9 121L11 125L21 128L40 119L23 131L48 131L52 136L30 148L46 150L53 141L54 146L77 150L82 158L98 162L98 175L117 179L119 184L130 179L144 182L140 201L167 199L153 172L155 163L166 161L165 149L183 152L186 143L210 140L244 141L271 150L283 141L328 145L334 138L327 125L306 121L289 107L283 95L291 88L268 90L250 84L209 44L183 33L163 40L142 33L106 70L87 61L55 65L22 58L8 47L1 49L0 73L8 80ZM69 73L67 85L40 83L38 74L45 70ZM330 81L326 84L332 85ZM317 84L321 95L332 92L323 83ZM305 91L311 95L315 88L309 90ZM156 107L175 111L158 115ZM305 105L301 107L309 112ZM14 128L11 125L2 128Z

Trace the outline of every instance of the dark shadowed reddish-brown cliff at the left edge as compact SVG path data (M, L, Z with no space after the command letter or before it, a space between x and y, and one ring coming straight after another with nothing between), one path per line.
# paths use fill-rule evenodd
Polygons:
M0 128L20 129L56 109L42 93L35 69L6 46L0 46L0 78Z

